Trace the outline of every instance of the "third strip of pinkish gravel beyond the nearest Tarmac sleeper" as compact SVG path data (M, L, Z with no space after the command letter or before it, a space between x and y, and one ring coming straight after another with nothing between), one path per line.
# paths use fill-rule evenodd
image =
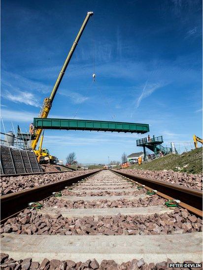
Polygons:
M110 190L106 190L106 191L100 191L100 192L85 192L85 191L81 191L81 192L73 192L73 191L69 191L68 189L63 190L62 191L62 195L67 195L67 196L73 196L73 195L77 195L77 196L117 196L117 195L139 195L139 194L144 194L146 193L146 189L135 189L135 191L110 191Z

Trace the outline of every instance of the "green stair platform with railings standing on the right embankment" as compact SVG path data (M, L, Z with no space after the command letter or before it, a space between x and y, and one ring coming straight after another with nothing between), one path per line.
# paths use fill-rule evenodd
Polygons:
M153 135L153 137L150 138L150 140L148 140L147 137L136 140L136 146L143 147L144 160L146 160L146 148L153 151L156 156L158 156L160 152L162 152L163 155L172 152L171 148L162 146L163 142L164 142L163 136L155 137Z

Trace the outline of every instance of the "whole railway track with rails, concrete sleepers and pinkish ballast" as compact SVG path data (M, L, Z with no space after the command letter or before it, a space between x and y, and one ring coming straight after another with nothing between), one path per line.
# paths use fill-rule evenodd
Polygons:
M181 203L167 207L178 199L175 186L118 173L94 171L1 196L1 267L161 270L201 263L201 192L178 189ZM195 201L190 212L183 194ZM42 207L24 210L37 201Z

